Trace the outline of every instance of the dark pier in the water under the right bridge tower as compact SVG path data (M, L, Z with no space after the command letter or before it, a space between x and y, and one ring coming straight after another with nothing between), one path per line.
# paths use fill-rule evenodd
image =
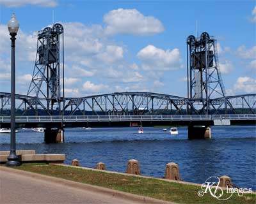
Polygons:
M188 139L211 139L211 127L209 126L188 126Z

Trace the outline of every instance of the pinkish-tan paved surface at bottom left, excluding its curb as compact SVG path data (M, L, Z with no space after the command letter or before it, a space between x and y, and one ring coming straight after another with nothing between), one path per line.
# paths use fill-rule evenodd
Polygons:
M138 203L58 182L0 171L0 203Z

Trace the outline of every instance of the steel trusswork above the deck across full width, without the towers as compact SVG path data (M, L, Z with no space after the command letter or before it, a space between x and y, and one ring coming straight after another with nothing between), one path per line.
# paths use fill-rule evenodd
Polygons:
M205 107L200 99L152 92L115 92L81 98L61 98L61 101L61 115L205 115ZM33 115L54 115L54 112L46 111L45 103L44 99L16 94L17 110L22 110L22 115L31 115L31 111ZM256 94L209 99L209 105L209 115L255 114ZM0 92L1 112L9 108L10 93ZM40 114L38 110L41 111ZM57 114L58 111L55 115Z

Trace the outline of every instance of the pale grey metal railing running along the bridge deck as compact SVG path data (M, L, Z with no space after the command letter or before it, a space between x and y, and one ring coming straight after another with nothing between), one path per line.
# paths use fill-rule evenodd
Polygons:
M16 116L16 122L95 122L95 121L163 121L163 120L256 120L255 114L237 115L54 115ZM10 116L0 116L0 123L10 122Z

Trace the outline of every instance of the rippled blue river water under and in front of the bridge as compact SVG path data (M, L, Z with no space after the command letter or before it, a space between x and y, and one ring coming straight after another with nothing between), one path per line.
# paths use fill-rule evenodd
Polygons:
M107 170L125 172L127 161L137 159L142 175L164 177L165 165L179 164L180 177L202 184L211 176L228 175L239 187L256 189L255 126L214 126L211 140L188 140L186 127L179 136L169 129L143 128L65 129L65 143L44 143L44 133L20 129L17 149L37 154L66 154L66 164L79 159L81 166L95 168L100 161ZM10 149L10 135L0 135L0 149Z

